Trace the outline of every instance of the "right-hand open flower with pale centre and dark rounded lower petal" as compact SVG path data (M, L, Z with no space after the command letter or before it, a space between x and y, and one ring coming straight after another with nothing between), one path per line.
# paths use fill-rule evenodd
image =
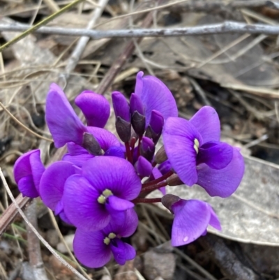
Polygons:
M233 159L233 148L220 140L220 121L216 111L205 106L190 121L169 117L163 129L165 152L179 178L189 186L198 181L197 165L221 170ZM228 172L234 176L235 170ZM239 166L243 172L243 165ZM210 179L209 179L210 180ZM232 189L237 186L232 185Z

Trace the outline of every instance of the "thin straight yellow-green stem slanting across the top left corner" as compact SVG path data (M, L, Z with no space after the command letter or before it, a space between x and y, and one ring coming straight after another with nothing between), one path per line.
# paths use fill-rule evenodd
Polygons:
M6 47L13 45L14 43L17 43L19 40L22 38L26 37L27 35L33 33L36 29L43 27L43 25L47 24L47 22L50 22L51 20L54 20L55 17L58 17L62 13L65 13L66 10L69 10L70 8L73 8L76 6L78 3L81 3L84 0L75 0L72 3L69 3L67 6L61 8L61 10L58 10L56 13L53 13L49 17L45 18L45 20L42 20L38 22L37 24L33 25L33 27L29 27L27 30L25 30L22 34L15 36L12 40L9 40L6 44L3 44L0 46L0 52L2 52Z

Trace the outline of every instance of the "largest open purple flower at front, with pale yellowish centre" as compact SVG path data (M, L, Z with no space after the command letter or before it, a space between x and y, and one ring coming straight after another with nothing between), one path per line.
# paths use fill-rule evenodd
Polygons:
M101 230L119 219L142 184L133 165L114 156L96 156L82 166L81 175L68 178L63 193L66 216L82 230Z

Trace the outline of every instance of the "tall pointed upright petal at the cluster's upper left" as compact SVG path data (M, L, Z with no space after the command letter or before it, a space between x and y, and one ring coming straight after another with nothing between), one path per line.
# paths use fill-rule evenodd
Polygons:
M45 119L56 148L63 147L67 142L82 145L82 135L86 132L86 127L57 84L50 85L45 104Z

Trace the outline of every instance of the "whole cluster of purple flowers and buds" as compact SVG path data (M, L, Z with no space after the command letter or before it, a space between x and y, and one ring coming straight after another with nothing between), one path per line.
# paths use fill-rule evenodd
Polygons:
M36 149L20 156L14 175L23 196L40 197L63 221L77 228L75 256L88 267L101 267L112 256L123 265L135 249L122 237L137 228L133 209L140 202L162 202L174 214L172 245L181 246L220 230L212 207L200 200L166 194L166 186L199 184L209 196L230 196L244 172L239 149L220 142L216 110L205 106L189 121L178 117L172 93L153 76L137 74L128 102L112 93L119 138L104 127L110 103L93 91L75 98L87 125L77 117L63 91L50 85L45 117L56 148L67 145L61 161L47 168ZM156 153L159 138L163 147ZM187 186L181 186L186 184ZM156 189L161 198L146 198Z

